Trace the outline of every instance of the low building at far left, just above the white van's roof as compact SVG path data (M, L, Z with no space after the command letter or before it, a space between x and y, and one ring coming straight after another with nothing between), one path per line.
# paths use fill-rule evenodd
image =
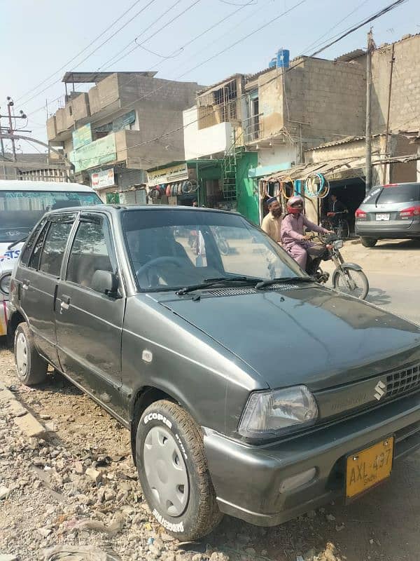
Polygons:
M16 154L16 160L0 155L0 180L67 181L64 163L51 161L48 154Z

